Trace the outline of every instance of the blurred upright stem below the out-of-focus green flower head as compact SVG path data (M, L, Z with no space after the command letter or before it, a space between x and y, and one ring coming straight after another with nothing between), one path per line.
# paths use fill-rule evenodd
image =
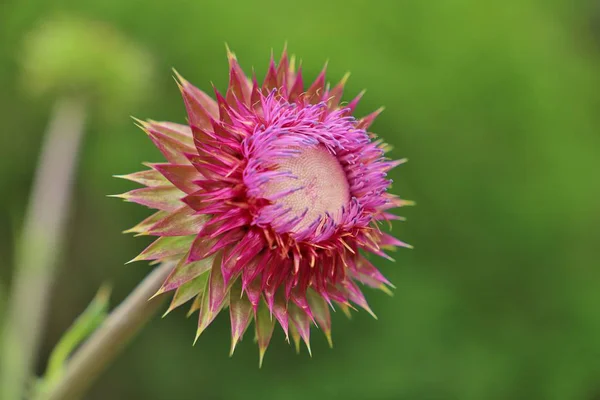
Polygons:
M57 258L69 214L83 136L85 105L59 99L44 136L22 234L0 343L0 398L23 398L32 377Z

